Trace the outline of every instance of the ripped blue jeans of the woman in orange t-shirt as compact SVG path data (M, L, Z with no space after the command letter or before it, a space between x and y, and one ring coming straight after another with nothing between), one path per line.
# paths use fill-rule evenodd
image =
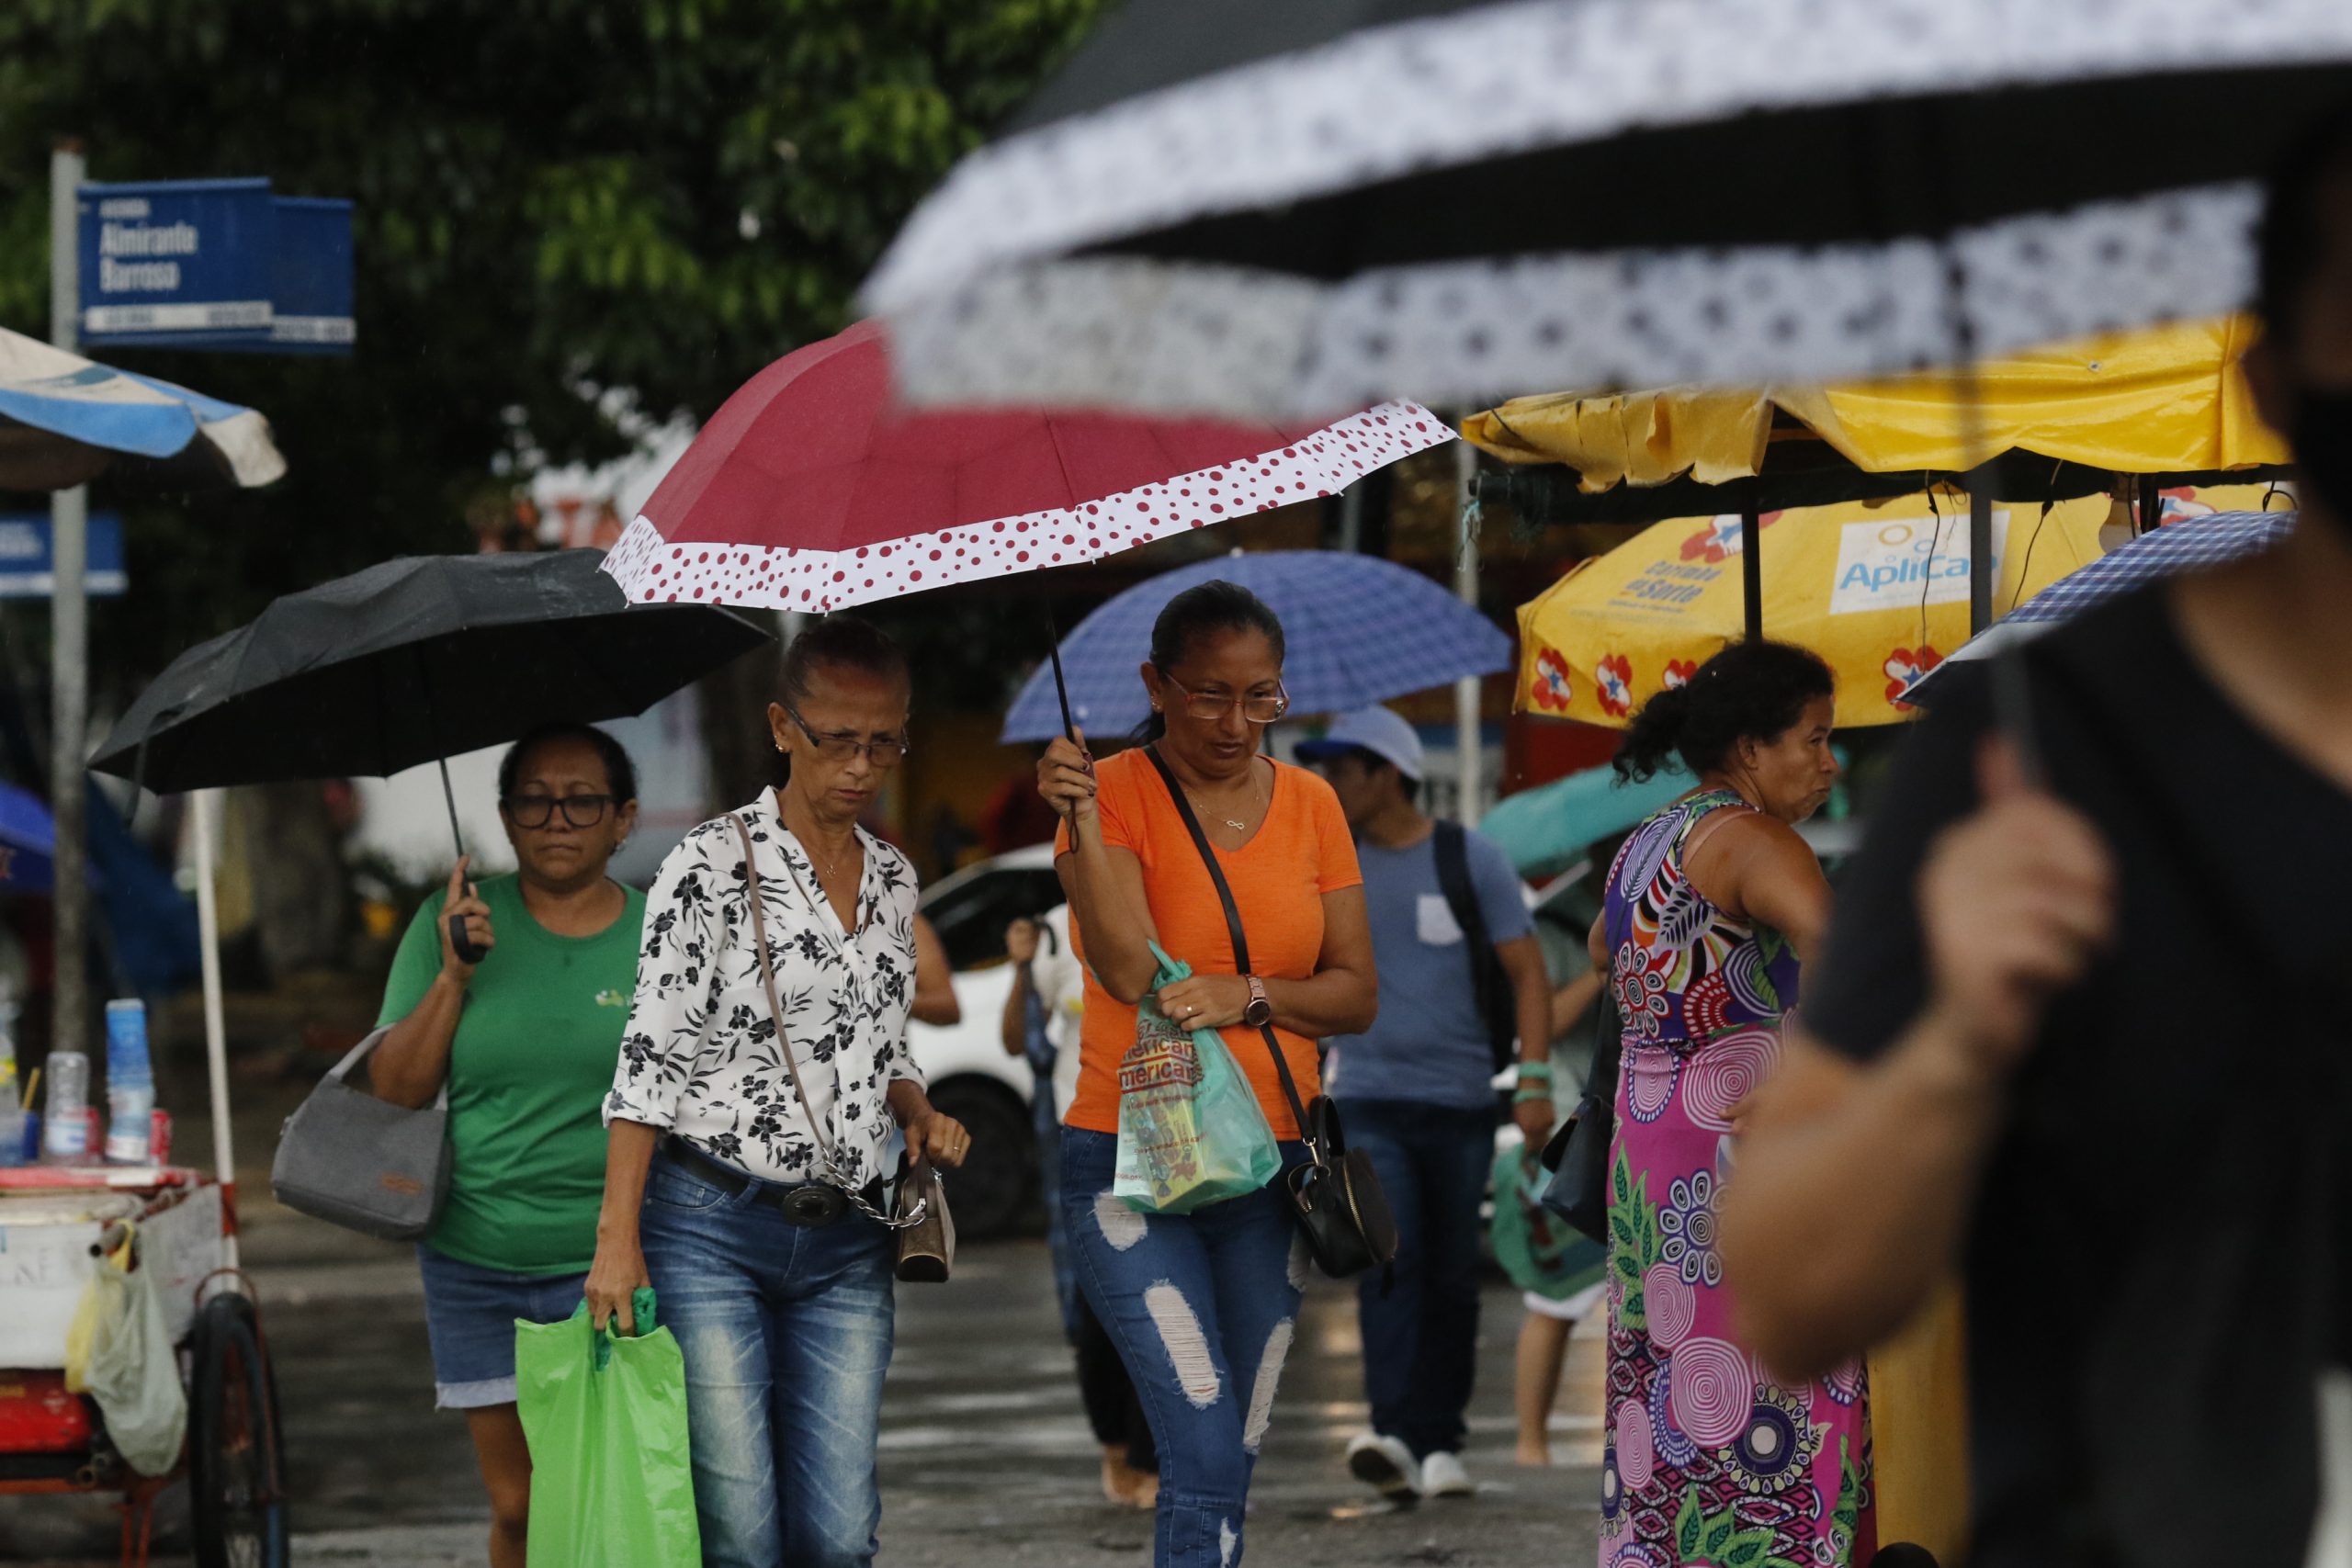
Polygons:
M1110 1197L1120 1140L1063 1128L1061 1213L1077 1279L1160 1443L1152 1568L1242 1561L1249 1472L1298 1324L1308 1253L1275 1187L1188 1215ZM1282 1164L1305 1159L1284 1143Z

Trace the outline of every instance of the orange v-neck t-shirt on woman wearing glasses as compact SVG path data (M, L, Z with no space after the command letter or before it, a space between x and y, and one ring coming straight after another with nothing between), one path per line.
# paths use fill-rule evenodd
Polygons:
M1143 863L1143 893L1152 910L1160 945L1200 976L1232 976L1232 936L1225 931L1225 905L1216 898L1209 867L1200 863L1192 835L1185 832L1167 783L1143 748L1094 764L1094 804L1103 818L1103 844L1129 849ZM1070 830L1063 825L1054 853L1070 853ZM1275 764L1275 795L1265 823L1242 849L1216 851L1242 910L1242 936L1249 938L1249 961L1263 980L1308 980L1322 957L1322 896L1364 884L1355 863L1355 839L1338 797L1315 773ZM1084 957L1077 922L1070 922L1070 950ZM1232 1060L1242 1063L1275 1138L1296 1138L1298 1119L1282 1098L1275 1058L1265 1034L1247 1025L1223 1032ZM1275 1027L1282 1056L1301 1103L1322 1086L1315 1041ZM1120 1131L1120 1058L1136 1044L1136 1009L1103 990L1087 971L1087 1018L1080 1030L1077 1098L1070 1100L1070 1126L1096 1133Z

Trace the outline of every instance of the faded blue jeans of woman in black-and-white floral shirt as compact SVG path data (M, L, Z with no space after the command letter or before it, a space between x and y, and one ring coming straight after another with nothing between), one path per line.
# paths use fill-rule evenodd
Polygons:
M644 1267L687 1361L703 1563L870 1563L896 1248L856 1213L788 1225L760 1190L722 1192L661 1154L644 1185Z

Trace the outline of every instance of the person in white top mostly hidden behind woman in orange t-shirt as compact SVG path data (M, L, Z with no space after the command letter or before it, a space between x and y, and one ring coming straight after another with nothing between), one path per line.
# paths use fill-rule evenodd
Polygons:
M1061 1333L1077 1354L1077 1396L1103 1446L1103 1497L1150 1509L1160 1502L1160 1448L1143 1418L1136 1385L1120 1363L1103 1319L1077 1288L1070 1225L1061 1213L1061 1119L1077 1098L1080 1032L1087 1016L1087 966L1070 950L1070 905L1004 931L1014 985L1004 997L1004 1053L1025 1058L1037 1074L1037 1187L1044 1197L1044 1239L1054 1258L1054 1298Z

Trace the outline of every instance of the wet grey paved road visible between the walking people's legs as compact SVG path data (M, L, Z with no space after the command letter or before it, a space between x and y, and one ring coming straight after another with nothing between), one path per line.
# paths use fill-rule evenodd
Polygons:
M247 1138L245 1147L263 1145ZM259 1178L254 1171L247 1194L268 1192ZM292 1215L266 1197L247 1199L245 1227L285 1396L294 1561L480 1563L487 1507L461 1422L430 1408L423 1300L409 1253ZM1148 1563L1150 1519L1112 1509L1096 1486L1098 1450L1077 1408L1044 1246L967 1248L955 1284L908 1286L898 1302L882 1418L882 1563ZM1517 1324L1517 1295L1496 1284L1465 1455L1479 1495L1397 1512L1341 1469L1343 1443L1364 1425L1355 1298L1317 1281L1258 1465L1251 1559L1287 1568L1590 1563L1597 1335L1571 1352L1555 1418L1557 1467L1531 1472L1510 1462ZM103 1505L12 1500L0 1509L0 1561L78 1566L108 1561L108 1552ZM176 1559L158 1561L176 1568Z

